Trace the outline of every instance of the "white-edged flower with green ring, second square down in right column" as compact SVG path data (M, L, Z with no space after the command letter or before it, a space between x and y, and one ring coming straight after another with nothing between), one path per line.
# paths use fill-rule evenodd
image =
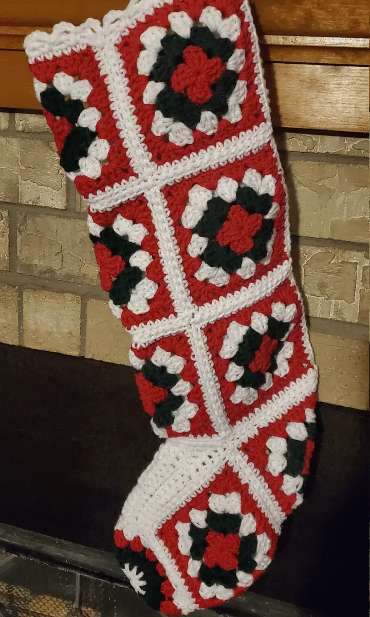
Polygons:
M247 280L257 263L269 262L279 210L275 183L249 169L241 183L221 176L214 191L191 188L181 223L193 231L187 253L203 262L195 278L222 287L232 274Z

